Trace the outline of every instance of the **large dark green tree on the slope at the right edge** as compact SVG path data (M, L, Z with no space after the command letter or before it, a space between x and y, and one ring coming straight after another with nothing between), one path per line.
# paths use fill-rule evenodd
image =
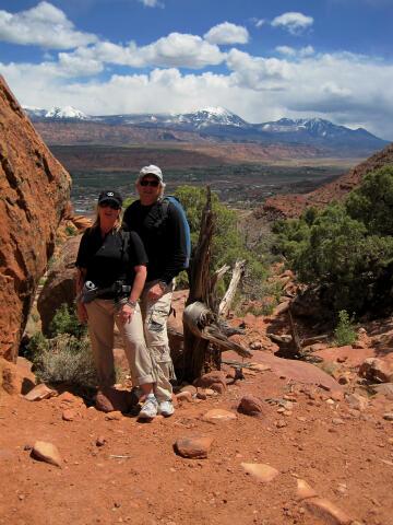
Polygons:
M276 249L334 312L391 308L393 167L367 175L344 203L277 222Z

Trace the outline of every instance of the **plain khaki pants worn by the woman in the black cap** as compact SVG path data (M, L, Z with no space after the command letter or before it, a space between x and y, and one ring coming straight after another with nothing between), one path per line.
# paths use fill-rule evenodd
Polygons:
M143 334L142 315L136 305L131 323L124 325L118 319L114 300L96 299L86 304L92 352L98 373L99 386L116 383L114 363L115 323L123 340L134 386L155 382L155 373Z

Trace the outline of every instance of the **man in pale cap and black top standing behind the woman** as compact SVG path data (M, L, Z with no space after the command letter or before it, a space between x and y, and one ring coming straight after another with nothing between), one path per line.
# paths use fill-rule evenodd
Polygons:
M146 345L155 363L155 399L151 410L165 417L174 413L174 364L167 335L167 319L175 288L175 277L184 269L187 242L184 223L178 208L169 202L163 220L163 173L158 166L144 166L139 173L136 190L140 199L130 205L123 217L123 229L135 231L144 244L148 264L147 278L140 303ZM154 413L155 412L155 413Z

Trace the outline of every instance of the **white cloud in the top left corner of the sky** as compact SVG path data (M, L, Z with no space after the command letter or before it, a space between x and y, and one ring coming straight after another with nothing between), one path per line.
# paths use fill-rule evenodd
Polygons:
M75 31L60 9L44 1L16 14L1 10L0 40L44 49L71 49L97 42L97 37Z

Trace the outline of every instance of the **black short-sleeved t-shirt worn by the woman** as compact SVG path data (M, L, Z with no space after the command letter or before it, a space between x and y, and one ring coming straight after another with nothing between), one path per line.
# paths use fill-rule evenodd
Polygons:
M111 231L103 238L99 228L85 231L75 262L87 270L86 281L98 288L109 288L118 280L132 285L134 267L146 265L147 255L138 233ZM108 299L107 294L103 298Z

